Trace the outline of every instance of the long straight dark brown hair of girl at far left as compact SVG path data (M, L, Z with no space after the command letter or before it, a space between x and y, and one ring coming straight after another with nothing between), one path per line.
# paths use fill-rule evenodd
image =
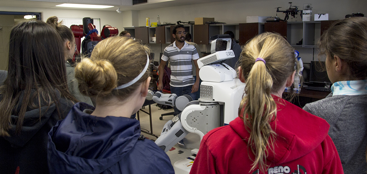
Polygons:
M9 136L10 124L17 125L16 131L20 132L27 108L55 104L61 118L60 95L75 101L68 90L63 58L61 37L47 23L29 21L12 28L8 76L0 87L0 136ZM17 105L21 105L19 111ZM11 122L11 114L18 114L15 123Z

